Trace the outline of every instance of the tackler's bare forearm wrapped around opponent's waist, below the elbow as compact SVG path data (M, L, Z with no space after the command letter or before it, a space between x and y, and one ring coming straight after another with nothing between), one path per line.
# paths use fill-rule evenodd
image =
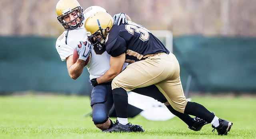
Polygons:
M107 70L102 76L97 78L98 84L111 82L120 72Z

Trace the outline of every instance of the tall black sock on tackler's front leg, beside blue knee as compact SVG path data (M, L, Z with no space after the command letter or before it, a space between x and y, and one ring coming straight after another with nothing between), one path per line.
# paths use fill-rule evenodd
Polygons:
M115 88L112 91L116 117L127 118L128 94L123 88ZM119 121L119 120L118 120Z

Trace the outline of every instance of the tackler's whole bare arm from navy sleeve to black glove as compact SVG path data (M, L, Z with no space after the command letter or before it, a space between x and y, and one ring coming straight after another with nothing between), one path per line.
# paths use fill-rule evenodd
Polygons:
M110 57L110 69L96 80L98 84L112 81L121 71L125 61L125 54L117 57Z

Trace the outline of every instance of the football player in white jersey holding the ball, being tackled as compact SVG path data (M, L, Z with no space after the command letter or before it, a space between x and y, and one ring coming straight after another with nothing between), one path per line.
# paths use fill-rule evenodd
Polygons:
M89 43L86 46L81 43L82 48L78 49L77 45L80 41L87 41L84 23L86 19L96 12L106 12L104 8L99 6L91 6L84 12L80 4L76 0L60 0L56 5L56 13L58 15L58 22L63 25L65 31L58 37L56 41L56 50L58 51L62 61L66 60L68 73L71 78L76 79L82 74L84 63L87 57L80 56L78 61L74 63L73 52L74 49L92 54L90 63L86 65L90 73L90 80L102 76L109 68L110 55L104 49L93 47ZM116 23L127 22L126 16L123 13L114 16ZM85 49L87 47L87 49ZM126 65L123 66L126 67ZM148 86L146 88L137 88L133 92L143 94L155 98L156 100L164 103L167 102L161 92L158 91L156 86ZM151 93L152 92L152 93ZM106 130L113 126L113 122L108 118L109 110L113 105L111 82L99 84L92 90L91 106L92 106L92 120L96 127L101 130ZM199 131L205 121L198 118L192 118L175 111L172 107L168 109L185 123L189 128ZM130 126L130 125L129 125ZM131 131L143 131L139 125L132 125Z

